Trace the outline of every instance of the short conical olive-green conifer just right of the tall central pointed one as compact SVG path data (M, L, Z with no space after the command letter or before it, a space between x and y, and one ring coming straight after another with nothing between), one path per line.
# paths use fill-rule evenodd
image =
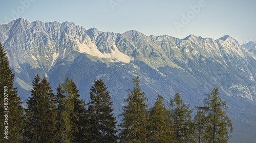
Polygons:
M167 116L168 111L163 104L163 97L158 95L155 105L149 110L149 142L174 142L172 121Z

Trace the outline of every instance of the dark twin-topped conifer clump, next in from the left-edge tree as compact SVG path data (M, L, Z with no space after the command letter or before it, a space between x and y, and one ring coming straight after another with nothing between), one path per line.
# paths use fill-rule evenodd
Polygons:
M40 81L37 75L32 82L33 89L26 111L24 142L55 142L57 108L54 94L46 77Z

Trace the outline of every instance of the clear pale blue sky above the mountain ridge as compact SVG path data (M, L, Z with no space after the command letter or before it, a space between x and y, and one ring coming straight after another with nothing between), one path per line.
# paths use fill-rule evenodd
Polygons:
M256 1L240 0L1 0L0 24L71 21L86 29L180 39L192 34L219 39L230 35L240 44L256 41Z

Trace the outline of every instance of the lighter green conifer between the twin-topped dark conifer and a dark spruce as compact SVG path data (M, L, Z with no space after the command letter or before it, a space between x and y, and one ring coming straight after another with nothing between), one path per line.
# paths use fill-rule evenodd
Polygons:
M85 126L84 102L80 99L77 85L67 77L57 88L58 132L60 142L81 142Z

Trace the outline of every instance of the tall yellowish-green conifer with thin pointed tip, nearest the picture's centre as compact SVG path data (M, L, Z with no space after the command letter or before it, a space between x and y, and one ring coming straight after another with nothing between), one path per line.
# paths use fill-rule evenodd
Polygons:
M128 98L124 99L127 105L123 106L121 113L122 123L118 126L120 129L120 140L122 142L146 142L147 126L147 104L148 99L141 93L139 76L133 79L135 87L129 89Z

